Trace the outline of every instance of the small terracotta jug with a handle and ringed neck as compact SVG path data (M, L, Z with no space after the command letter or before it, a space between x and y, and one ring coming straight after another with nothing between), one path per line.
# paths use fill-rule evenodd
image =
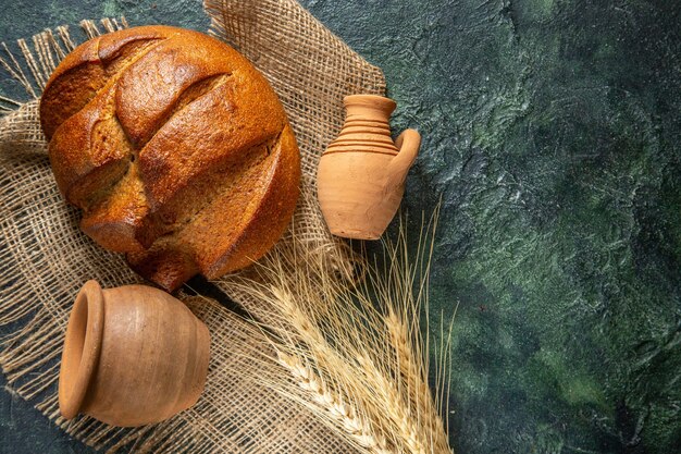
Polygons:
M377 240L399 208L421 136L407 130L393 143L392 99L352 95L344 102L343 130L319 163L319 203L334 235Z

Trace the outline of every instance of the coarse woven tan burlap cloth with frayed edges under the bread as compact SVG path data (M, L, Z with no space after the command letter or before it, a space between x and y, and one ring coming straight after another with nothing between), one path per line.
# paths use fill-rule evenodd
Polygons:
M239 49L268 77L295 128L302 157L302 197L295 232L271 254L284 254L295 234L301 254L325 254L348 265L343 243L329 234L314 194L321 152L338 133L345 95L383 94L381 71L350 50L294 0L207 0L210 33ZM88 36L126 26L125 21L84 22ZM103 29L98 29L103 28ZM9 385L69 433L85 443L136 452L322 453L351 452L306 410L249 379L252 368L277 365L249 361L265 352L259 330L208 298L185 302L208 324L211 364L206 390L193 408L160 425L110 428L87 417L59 416L57 379L63 334L74 295L89 279L102 286L139 282L123 259L107 253L78 230L79 214L66 206L52 177L38 122L38 98L49 74L76 45L65 27L18 41L2 64L32 98L14 103L0 98L0 364ZM296 242L298 244L298 242ZM256 317L268 308L248 292L218 284ZM9 327L8 327L9 326ZM260 372L260 370L258 371ZM284 372L282 372L284 373Z

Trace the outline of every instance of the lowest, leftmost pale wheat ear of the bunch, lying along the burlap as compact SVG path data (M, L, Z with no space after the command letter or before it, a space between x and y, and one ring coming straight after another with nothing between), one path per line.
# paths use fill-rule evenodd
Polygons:
M306 391L312 402L324 409L359 446L373 454L391 454L385 438L375 434L371 426L357 415L357 412L342 397L333 393L314 371L298 358L277 353L278 363L284 366L296 382Z

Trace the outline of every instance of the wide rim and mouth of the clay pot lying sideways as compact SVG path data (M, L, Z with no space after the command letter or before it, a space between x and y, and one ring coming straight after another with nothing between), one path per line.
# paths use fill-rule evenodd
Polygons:
M85 401L101 352L104 297L97 281L87 281L78 292L66 327L59 370L59 409L71 419Z

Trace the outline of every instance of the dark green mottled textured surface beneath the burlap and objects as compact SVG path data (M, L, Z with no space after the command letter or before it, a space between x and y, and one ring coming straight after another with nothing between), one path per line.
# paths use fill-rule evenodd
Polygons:
M197 0L1 0L0 39L83 17L205 30ZM305 0L386 75L444 208L461 454L681 453L681 4ZM11 5L11 8L9 8ZM88 452L7 392L0 452Z

